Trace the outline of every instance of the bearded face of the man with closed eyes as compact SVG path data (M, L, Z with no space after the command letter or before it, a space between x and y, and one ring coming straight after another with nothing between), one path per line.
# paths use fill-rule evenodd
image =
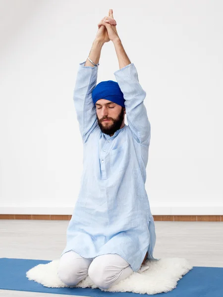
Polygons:
M124 127L125 108L107 99L95 103L97 119L102 132L112 136L115 131ZM108 121L104 121L108 119Z

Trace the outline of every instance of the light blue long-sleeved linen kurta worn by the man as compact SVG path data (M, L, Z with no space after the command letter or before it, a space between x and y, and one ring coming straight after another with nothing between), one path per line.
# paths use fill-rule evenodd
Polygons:
M146 92L133 63L114 72L124 95L128 125L110 137L98 125L91 95L98 66L84 64L79 64L73 96L83 141L83 173L62 254L74 250L95 258L117 253L137 272L147 251L148 258L155 259L156 243L145 190L151 136L143 103Z

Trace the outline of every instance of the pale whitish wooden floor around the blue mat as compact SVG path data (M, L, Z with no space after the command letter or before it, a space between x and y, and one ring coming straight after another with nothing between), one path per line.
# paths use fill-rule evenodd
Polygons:
M69 221L0 220L0 257L55 260L66 243ZM155 221L154 257L182 257L193 266L223 267L223 222ZM0 297L67 297L0 290Z

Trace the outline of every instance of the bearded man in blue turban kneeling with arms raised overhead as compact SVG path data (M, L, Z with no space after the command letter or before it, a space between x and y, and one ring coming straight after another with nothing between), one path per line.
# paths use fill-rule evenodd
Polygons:
M84 158L58 268L68 286L89 275L99 288L109 289L137 272L147 257L155 259L155 225L145 190L150 145L146 92L115 26L110 9L98 24L88 59L80 63L74 90ZM110 40L119 63L117 82L96 85L101 49Z

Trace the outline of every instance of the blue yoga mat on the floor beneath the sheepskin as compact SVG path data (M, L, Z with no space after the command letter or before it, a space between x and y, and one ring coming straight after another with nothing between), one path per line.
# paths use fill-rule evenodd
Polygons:
M142 294L132 292L104 292L91 288L48 288L29 281L26 272L38 264L47 264L46 260L0 258L0 290L16 290L79 296L122 296L142 297ZM178 282L175 289L153 297L222 297L223 296L223 268L194 266Z

